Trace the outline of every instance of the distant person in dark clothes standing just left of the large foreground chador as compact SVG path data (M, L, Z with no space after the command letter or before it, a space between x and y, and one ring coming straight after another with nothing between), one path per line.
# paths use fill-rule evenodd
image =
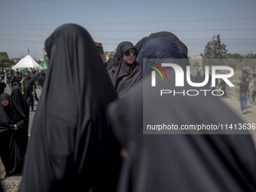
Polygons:
M26 78L23 79L21 89L21 93L29 101L29 105L31 105L31 110L34 111L35 80L30 77L29 71L26 72Z

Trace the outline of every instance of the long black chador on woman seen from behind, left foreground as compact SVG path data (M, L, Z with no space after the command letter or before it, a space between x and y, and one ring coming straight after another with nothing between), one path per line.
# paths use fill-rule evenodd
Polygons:
M114 191L120 146L105 108L117 93L96 46L86 29L65 24L45 50L50 63L19 191Z

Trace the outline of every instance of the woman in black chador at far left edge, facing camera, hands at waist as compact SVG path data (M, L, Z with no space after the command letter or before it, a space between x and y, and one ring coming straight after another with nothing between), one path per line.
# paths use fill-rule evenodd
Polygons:
M22 109L8 93L0 99L0 156L8 177L22 172L28 126Z

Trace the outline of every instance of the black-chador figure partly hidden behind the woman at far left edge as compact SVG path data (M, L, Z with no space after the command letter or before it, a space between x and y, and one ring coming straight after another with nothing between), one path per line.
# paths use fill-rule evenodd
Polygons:
M17 83L14 83L14 87L11 90L11 97L22 108L23 113L26 115L27 126L29 126L29 103L21 93L20 87Z

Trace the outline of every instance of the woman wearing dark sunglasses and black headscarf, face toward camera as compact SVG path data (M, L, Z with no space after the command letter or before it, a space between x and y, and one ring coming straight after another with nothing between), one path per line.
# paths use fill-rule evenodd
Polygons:
M114 66L108 74L120 97L142 79L142 70L139 62L135 60L136 55L137 50L131 42L123 41L118 44Z

